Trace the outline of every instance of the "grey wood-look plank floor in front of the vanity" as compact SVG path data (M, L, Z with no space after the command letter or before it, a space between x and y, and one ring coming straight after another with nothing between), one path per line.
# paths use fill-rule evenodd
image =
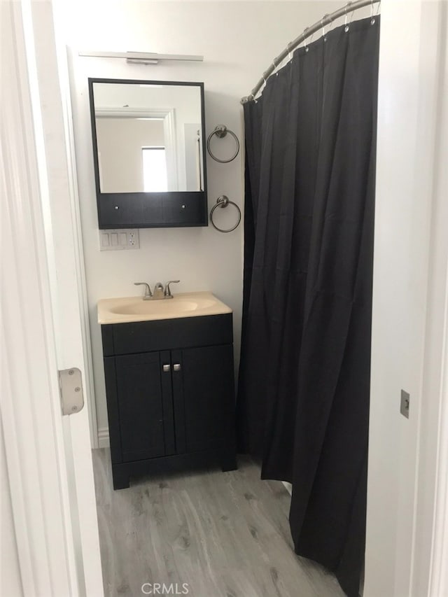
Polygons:
M107 597L141 596L146 582L174 583L171 594L187 583L190 597L344 596L335 577L294 554L290 496L249 459L119 491L109 450L94 450L93 462Z

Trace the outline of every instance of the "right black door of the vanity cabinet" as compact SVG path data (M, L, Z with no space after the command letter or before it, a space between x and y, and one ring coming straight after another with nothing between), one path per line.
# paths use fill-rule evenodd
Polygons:
M231 345L172 351L176 448L226 449L235 442L235 385ZM176 367L179 365L179 367Z

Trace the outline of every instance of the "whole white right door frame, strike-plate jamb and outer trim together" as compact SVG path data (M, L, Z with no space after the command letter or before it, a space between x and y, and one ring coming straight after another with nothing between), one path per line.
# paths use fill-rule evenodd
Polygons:
M381 6L366 597L448 594L446 9Z

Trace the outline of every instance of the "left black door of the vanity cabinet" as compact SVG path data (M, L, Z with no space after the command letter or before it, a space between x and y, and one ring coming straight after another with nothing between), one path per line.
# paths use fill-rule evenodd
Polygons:
M174 454L168 352L116 357L123 462Z

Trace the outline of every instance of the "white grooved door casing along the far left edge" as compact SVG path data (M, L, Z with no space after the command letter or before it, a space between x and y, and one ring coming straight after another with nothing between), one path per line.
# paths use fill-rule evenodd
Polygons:
M1 423L20 578L26 596L78 595L83 580L73 545L45 247L48 222L38 174L42 131L36 129L31 101L36 92L31 6L2 3L1 10L2 34L10 31L2 52L10 91L1 161L6 198L2 273L3 283L8 281L1 305Z

